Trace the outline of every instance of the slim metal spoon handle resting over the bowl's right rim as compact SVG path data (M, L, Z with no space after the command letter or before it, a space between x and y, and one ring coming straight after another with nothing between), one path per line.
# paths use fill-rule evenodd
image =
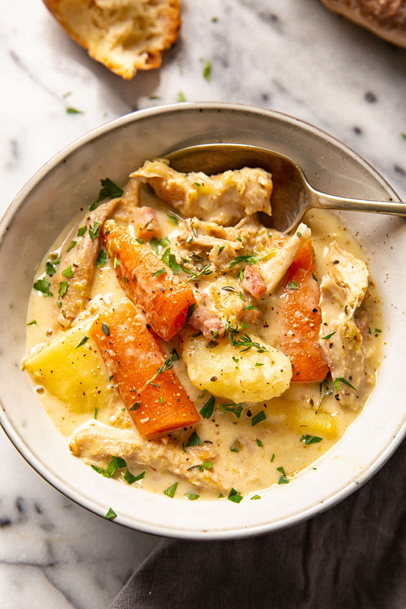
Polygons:
M346 197L335 197L335 195L324 194L324 192L319 192L313 188L311 190L313 195L312 207L321 209L348 209L349 211L369 211L376 214L406 216L406 203L348 199Z

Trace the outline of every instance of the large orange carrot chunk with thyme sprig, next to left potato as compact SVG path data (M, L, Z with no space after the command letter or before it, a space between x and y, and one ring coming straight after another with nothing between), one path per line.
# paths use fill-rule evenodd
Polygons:
M168 359L161 345L131 303L104 311L89 332L142 436L149 438L200 421L179 379L165 365ZM159 368L164 368L160 374Z

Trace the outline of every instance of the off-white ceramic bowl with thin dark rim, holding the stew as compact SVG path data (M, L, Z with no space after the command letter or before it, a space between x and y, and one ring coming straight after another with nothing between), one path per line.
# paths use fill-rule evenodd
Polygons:
M106 176L122 184L145 158L192 144L236 142L293 158L312 186L335 195L399 200L366 161L298 119L231 104L180 104L129 114L62 150L16 197L0 224L0 422L16 449L50 484L101 516L145 532L183 538L232 538L296 524L337 503L372 476L405 434L403 406L405 283L399 252L406 248L399 217L346 213L369 254L383 298L385 348L373 395L341 440L292 484L261 492L261 501L183 501L135 490L94 475L69 454L20 370L26 309L37 265ZM13 261L12 273L9 264ZM373 442L371 441L373 438Z

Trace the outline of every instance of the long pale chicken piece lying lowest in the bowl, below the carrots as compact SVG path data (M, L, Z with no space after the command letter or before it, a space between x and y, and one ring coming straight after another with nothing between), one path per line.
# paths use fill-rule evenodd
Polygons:
M217 449L208 442L183 451L167 437L142 440L135 431L111 428L91 419L74 431L69 448L76 457L99 467L107 466L113 455L125 459L130 470L137 465L144 465L155 471L173 473L196 487L219 490L229 488L229 484L225 484L215 472L215 466L199 470L201 463L213 462L217 456Z

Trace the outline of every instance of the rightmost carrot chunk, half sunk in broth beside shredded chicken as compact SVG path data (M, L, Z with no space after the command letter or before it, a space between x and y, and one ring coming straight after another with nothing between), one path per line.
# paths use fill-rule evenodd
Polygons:
M320 290L315 272L309 239L295 256L278 294L279 348L292 362L292 382L323 381L329 371L319 343Z

